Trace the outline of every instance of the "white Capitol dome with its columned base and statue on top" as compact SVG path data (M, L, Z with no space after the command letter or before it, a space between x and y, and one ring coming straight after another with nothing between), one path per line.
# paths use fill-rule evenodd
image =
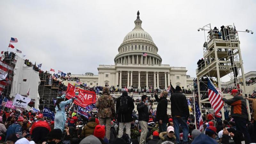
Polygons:
M152 37L141 27L140 12L137 12L135 27L129 32L118 47L115 64L161 64L158 48Z

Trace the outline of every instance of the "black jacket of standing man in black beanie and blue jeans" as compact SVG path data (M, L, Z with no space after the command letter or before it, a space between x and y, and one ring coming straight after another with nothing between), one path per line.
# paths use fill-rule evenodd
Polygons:
M180 92L175 92L171 95L171 112L173 116L185 116L188 118L189 109L188 109L188 101L185 95Z

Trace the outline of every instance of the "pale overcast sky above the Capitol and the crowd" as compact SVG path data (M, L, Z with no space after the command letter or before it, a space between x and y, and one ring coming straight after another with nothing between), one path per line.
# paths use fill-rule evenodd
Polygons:
M235 23L237 30L255 32L239 33L239 39L245 72L256 70L254 0L1 0L0 46L6 51L10 37L16 37L15 48L33 63L43 63L43 70L97 75L98 65L114 64L117 48L134 28L138 10L162 64L186 67L187 74L195 77L204 43L204 33L197 28L211 23L220 29Z

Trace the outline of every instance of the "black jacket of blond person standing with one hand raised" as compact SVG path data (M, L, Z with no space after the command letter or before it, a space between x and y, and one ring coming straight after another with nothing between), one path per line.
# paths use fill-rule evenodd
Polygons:
M168 123L168 117L167 117L167 105L168 101L166 98L158 98L157 95L155 95L155 99L158 102L157 108L156 108L156 121L159 122L159 120L162 120L163 123Z

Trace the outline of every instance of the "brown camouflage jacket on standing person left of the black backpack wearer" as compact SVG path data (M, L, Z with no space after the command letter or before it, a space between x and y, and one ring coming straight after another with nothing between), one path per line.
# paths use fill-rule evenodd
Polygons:
M96 102L96 108L98 108L98 116L102 118L114 117L115 114L115 102L113 98L104 93L100 96Z

